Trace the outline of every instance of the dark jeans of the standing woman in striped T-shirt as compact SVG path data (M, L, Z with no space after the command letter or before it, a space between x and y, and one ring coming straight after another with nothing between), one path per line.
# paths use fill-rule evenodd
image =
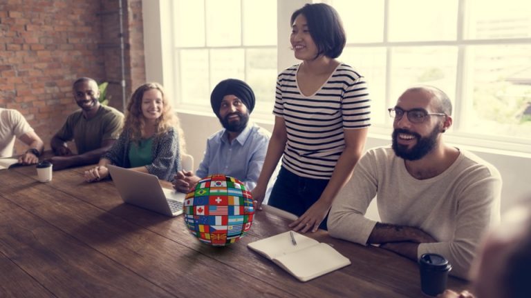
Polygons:
M277 181L274 182L268 205L301 216L321 197L324 188L328 185L328 181L299 177L282 167ZM319 228L327 230L327 219L328 215L323 219Z

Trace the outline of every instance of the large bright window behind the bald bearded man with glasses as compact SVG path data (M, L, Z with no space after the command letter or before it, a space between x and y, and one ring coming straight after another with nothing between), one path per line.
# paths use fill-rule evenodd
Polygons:
M347 32L342 61L364 73L373 122L414 84L445 90L451 135L531 144L531 5L525 0L330 0ZM502 146L503 147L503 146ZM513 147L514 148L514 147Z

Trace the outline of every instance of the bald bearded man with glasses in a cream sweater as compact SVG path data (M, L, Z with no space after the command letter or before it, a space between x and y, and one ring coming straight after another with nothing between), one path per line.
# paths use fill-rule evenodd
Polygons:
M450 274L466 278L481 237L499 222L499 172L443 141L452 118L442 90L409 88L389 115L391 148L373 148L358 161L330 210L328 232L414 261L427 252L443 255ZM374 197L381 222L364 217Z

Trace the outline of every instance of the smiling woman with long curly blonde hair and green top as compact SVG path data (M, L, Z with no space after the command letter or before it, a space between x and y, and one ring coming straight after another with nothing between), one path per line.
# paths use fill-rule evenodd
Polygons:
M95 168L85 172L85 179L93 182L108 177L106 166L113 164L171 181L181 169L183 146L178 118L162 86L145 83L131 95L120 138Z

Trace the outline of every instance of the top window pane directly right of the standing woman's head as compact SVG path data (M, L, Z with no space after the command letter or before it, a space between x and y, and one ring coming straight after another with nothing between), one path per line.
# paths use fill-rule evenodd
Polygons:
M347 43L383 41L383 0L333 0L330 5L343 21Z

